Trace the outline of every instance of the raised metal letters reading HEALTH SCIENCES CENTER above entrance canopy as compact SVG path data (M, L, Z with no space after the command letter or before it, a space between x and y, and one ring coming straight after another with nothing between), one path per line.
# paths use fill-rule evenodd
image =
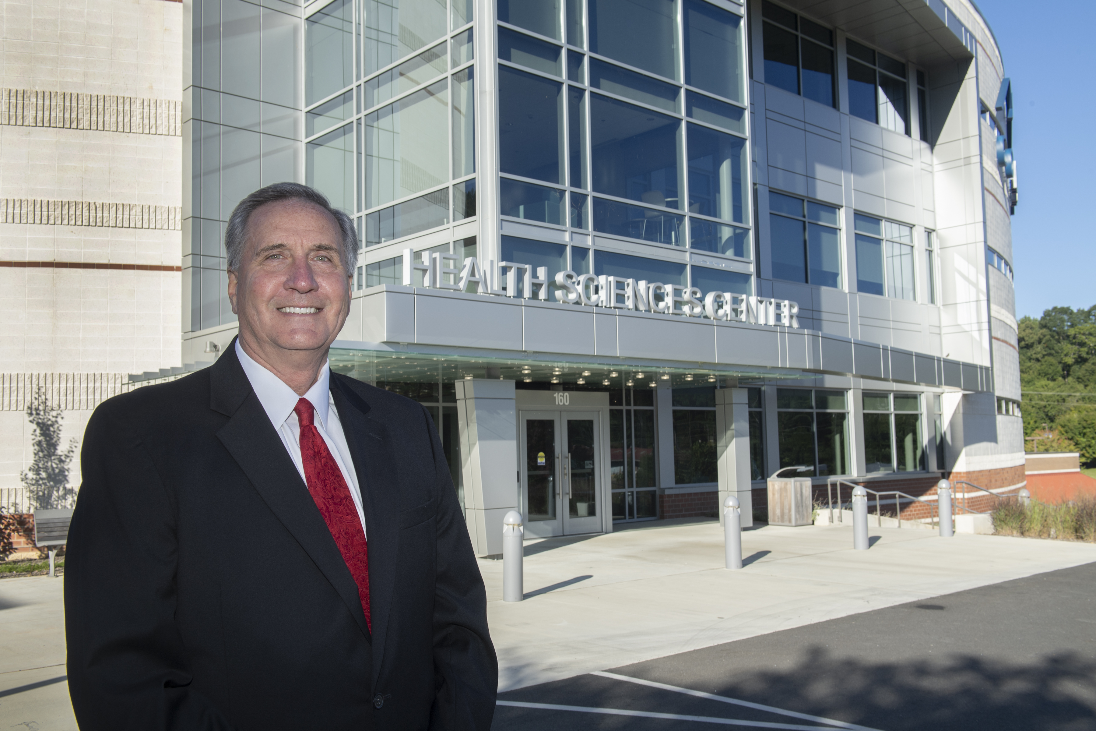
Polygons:
M637 282L607 274L576 274L571 271L557 272L555 278L549 279L547 266L537 266L534 276L534 267L530 264L515 262L495 264L494 261L488 260L481 265L475 256L469 256L458 267L459 259L455 254L424 251L421 261L416 262L414 249L404 249L403 286L467 292L469 285L475 285L476 293L480 295L523 299L532 299L535 296L536 299L548 301L548 287L555 284L558 289L552 295L558 302L684 317L708 317L711 320L774 327L799 327L797 317L799 304L788 299L755 297L733 292L709 292L705 295L697 287L646 279ZM421 281L418 275L421 275Z

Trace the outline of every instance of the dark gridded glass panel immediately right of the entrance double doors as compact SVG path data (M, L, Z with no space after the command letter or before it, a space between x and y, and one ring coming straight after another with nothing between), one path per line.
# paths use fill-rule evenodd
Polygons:
M659 516L654 461L654 391L625 388L609 393L609 471L613 519ZM623 407L623 408L618 408Z

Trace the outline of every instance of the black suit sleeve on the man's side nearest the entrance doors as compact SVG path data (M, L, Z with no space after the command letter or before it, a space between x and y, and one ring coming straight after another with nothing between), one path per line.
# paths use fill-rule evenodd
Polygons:
M434 594L434 731L488 731L499 661L487 625L487 592L433 421L423 409L437 476Z

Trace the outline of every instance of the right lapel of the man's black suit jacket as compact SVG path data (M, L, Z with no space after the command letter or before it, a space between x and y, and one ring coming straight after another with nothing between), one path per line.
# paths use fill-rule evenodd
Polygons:
M362 489L366 541L369 546L369 613L373 621L374 676L380 670L392 609L399 546L399 470L392 459L388 430L367 413L369 406L345 376L331 374L331 395Z

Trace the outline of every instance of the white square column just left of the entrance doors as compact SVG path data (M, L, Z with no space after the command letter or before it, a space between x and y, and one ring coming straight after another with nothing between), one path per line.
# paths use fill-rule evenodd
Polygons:
M502 518L517 510L514 381L456 381L465 522L477 556L502 555Z

